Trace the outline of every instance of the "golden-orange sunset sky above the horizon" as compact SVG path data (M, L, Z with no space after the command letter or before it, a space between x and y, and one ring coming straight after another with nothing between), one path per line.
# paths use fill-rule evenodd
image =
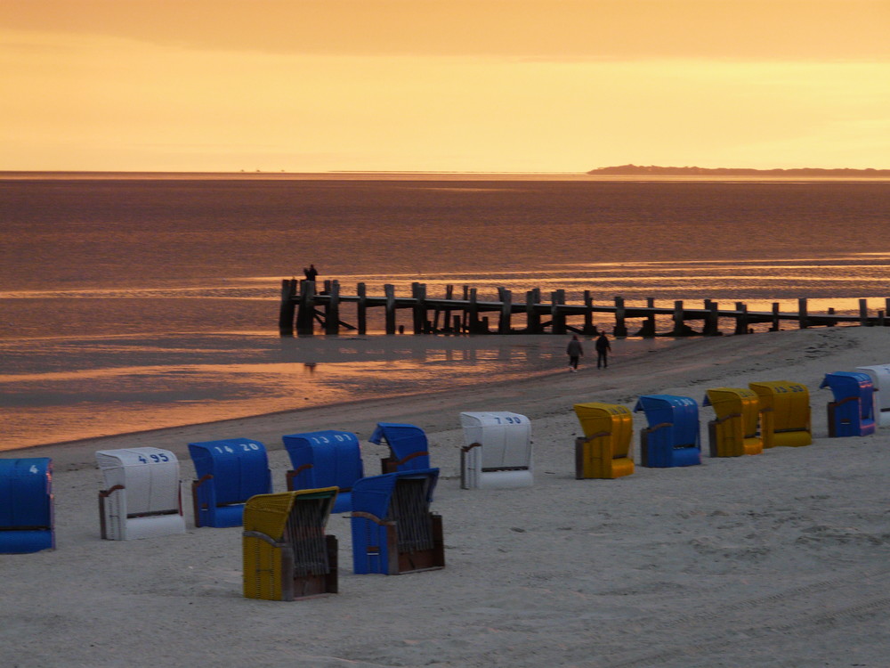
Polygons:
M890 168L890 0L0 0L0 170Z

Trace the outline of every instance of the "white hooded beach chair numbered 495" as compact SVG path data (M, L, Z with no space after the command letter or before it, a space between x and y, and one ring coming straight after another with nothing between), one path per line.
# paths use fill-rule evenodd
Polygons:
M99 493L102 538L130 541L185 533L179 460L168 450L100 450L106 489Z

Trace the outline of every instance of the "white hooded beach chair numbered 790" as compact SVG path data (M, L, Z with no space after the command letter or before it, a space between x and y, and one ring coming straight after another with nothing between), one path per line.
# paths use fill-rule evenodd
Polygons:
M506 489L534 484L531 423L511 412L463 412L465 445L460 450L460 486Z

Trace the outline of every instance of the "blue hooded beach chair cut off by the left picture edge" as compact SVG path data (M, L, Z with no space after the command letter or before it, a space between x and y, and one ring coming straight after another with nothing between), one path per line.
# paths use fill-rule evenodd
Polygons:
M0 460L0 554L55 547L53 460Z

